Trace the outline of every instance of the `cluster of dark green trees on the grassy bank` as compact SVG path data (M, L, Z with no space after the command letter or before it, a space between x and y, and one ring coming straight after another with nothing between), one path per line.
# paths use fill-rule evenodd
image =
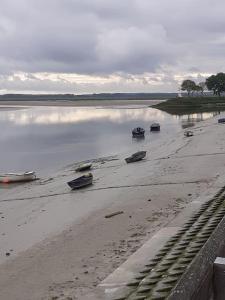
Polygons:
M196 84L193 80L186 79L181 84L181 90L187 91L188 96L194 94L195 92L201 93L203 95L204 90L212 91L213 95L221 96L225 92L225 73L217 73L216 75L211 75L206 79L206 81Z

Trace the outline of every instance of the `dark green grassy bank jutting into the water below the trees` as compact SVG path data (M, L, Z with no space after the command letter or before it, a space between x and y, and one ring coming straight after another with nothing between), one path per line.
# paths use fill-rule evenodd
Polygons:
M225 111L225 97L183 97L172 98L153 106L173 115L198 112Z

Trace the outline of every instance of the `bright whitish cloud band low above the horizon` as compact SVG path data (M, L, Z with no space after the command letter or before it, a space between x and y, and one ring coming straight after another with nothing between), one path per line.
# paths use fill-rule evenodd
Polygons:
M0 76L0 92L5 93L8 91L19 93L101 93L101 92L157 92L158 86L165 87L165 91L173 91L176 81L173 76L159 76L154 74L151 76L136 76L129 74L120 74L117 80L103 80L102 82L73 82L65 80L62 76L58 76L58 80L51 80L48 78L40 79L33 74L26 74L25 79L21 79L19 75ZM105 77L104 79L107 79ZM151 84L153 83L153 86Z

